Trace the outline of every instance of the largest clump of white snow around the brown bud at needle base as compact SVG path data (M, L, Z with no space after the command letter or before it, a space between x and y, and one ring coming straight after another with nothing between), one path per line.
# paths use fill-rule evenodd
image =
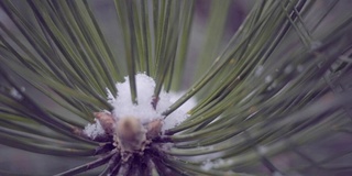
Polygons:
M162 131L165 131L176 127L185 119L187 119L187 111L196 106L197 101L195 100L195 98L191 98L164 120L162 113L167 110L176 100L178 100L178 98L182 97L185 92L165 92L164 90L162 90L156 109L154 109L152 106L153 94L155 89L154 79L145 74L138 74L135 75L135 84L138 96L136 105L134 105L131 99L129 77L125 77L123 82L118 82L116 85L118 89L117 97L114 97L111 91L107 89L108 102L113 107L112 116L116 121L118 121L119 119L133 117L138 118L142 124L146 124L153 120L162 119ZM96 134L101 134L103 132L102 129L102 132L96 131L99 130L101 125L92 125L95 124L88 124L86 127L86 134L96 136Z

